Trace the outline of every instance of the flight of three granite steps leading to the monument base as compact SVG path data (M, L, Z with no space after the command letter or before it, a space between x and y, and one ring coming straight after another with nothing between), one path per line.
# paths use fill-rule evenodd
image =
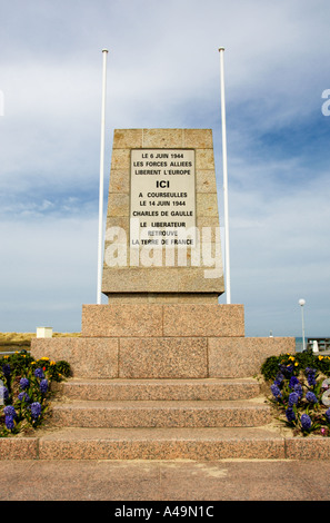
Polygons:
M71 378L57 391L46 460L282 457L253 378Z

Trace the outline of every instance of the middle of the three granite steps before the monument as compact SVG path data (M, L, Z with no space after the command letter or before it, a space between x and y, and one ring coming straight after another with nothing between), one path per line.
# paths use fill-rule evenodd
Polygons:
M270 423L270 406L252 401L78 401L53 404L52 426L224 427Z

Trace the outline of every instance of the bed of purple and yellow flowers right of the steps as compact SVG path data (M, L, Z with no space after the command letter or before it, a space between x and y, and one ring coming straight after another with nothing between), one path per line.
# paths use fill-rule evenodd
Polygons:
M330 436L330 408L324 402L329 389L330 358L313 354L271 356L261 367L269 383L269 399L279 412L279 420L293 434L311 433ZM328 394L327 394L328 396Z

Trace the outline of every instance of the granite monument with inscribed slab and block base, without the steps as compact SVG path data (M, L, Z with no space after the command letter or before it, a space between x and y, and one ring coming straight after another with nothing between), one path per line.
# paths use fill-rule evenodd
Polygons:
M79 338L38 357L101 378L227 378L259 372L293 338L246 338L224 292L212 131L116 129L104 239L107 305L82 306Z

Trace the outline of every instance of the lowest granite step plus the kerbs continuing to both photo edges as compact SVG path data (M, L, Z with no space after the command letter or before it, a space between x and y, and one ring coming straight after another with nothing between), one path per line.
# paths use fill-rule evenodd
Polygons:
M1 460L329 460L330 438L274 426L224 428L39 428L0 438Z

